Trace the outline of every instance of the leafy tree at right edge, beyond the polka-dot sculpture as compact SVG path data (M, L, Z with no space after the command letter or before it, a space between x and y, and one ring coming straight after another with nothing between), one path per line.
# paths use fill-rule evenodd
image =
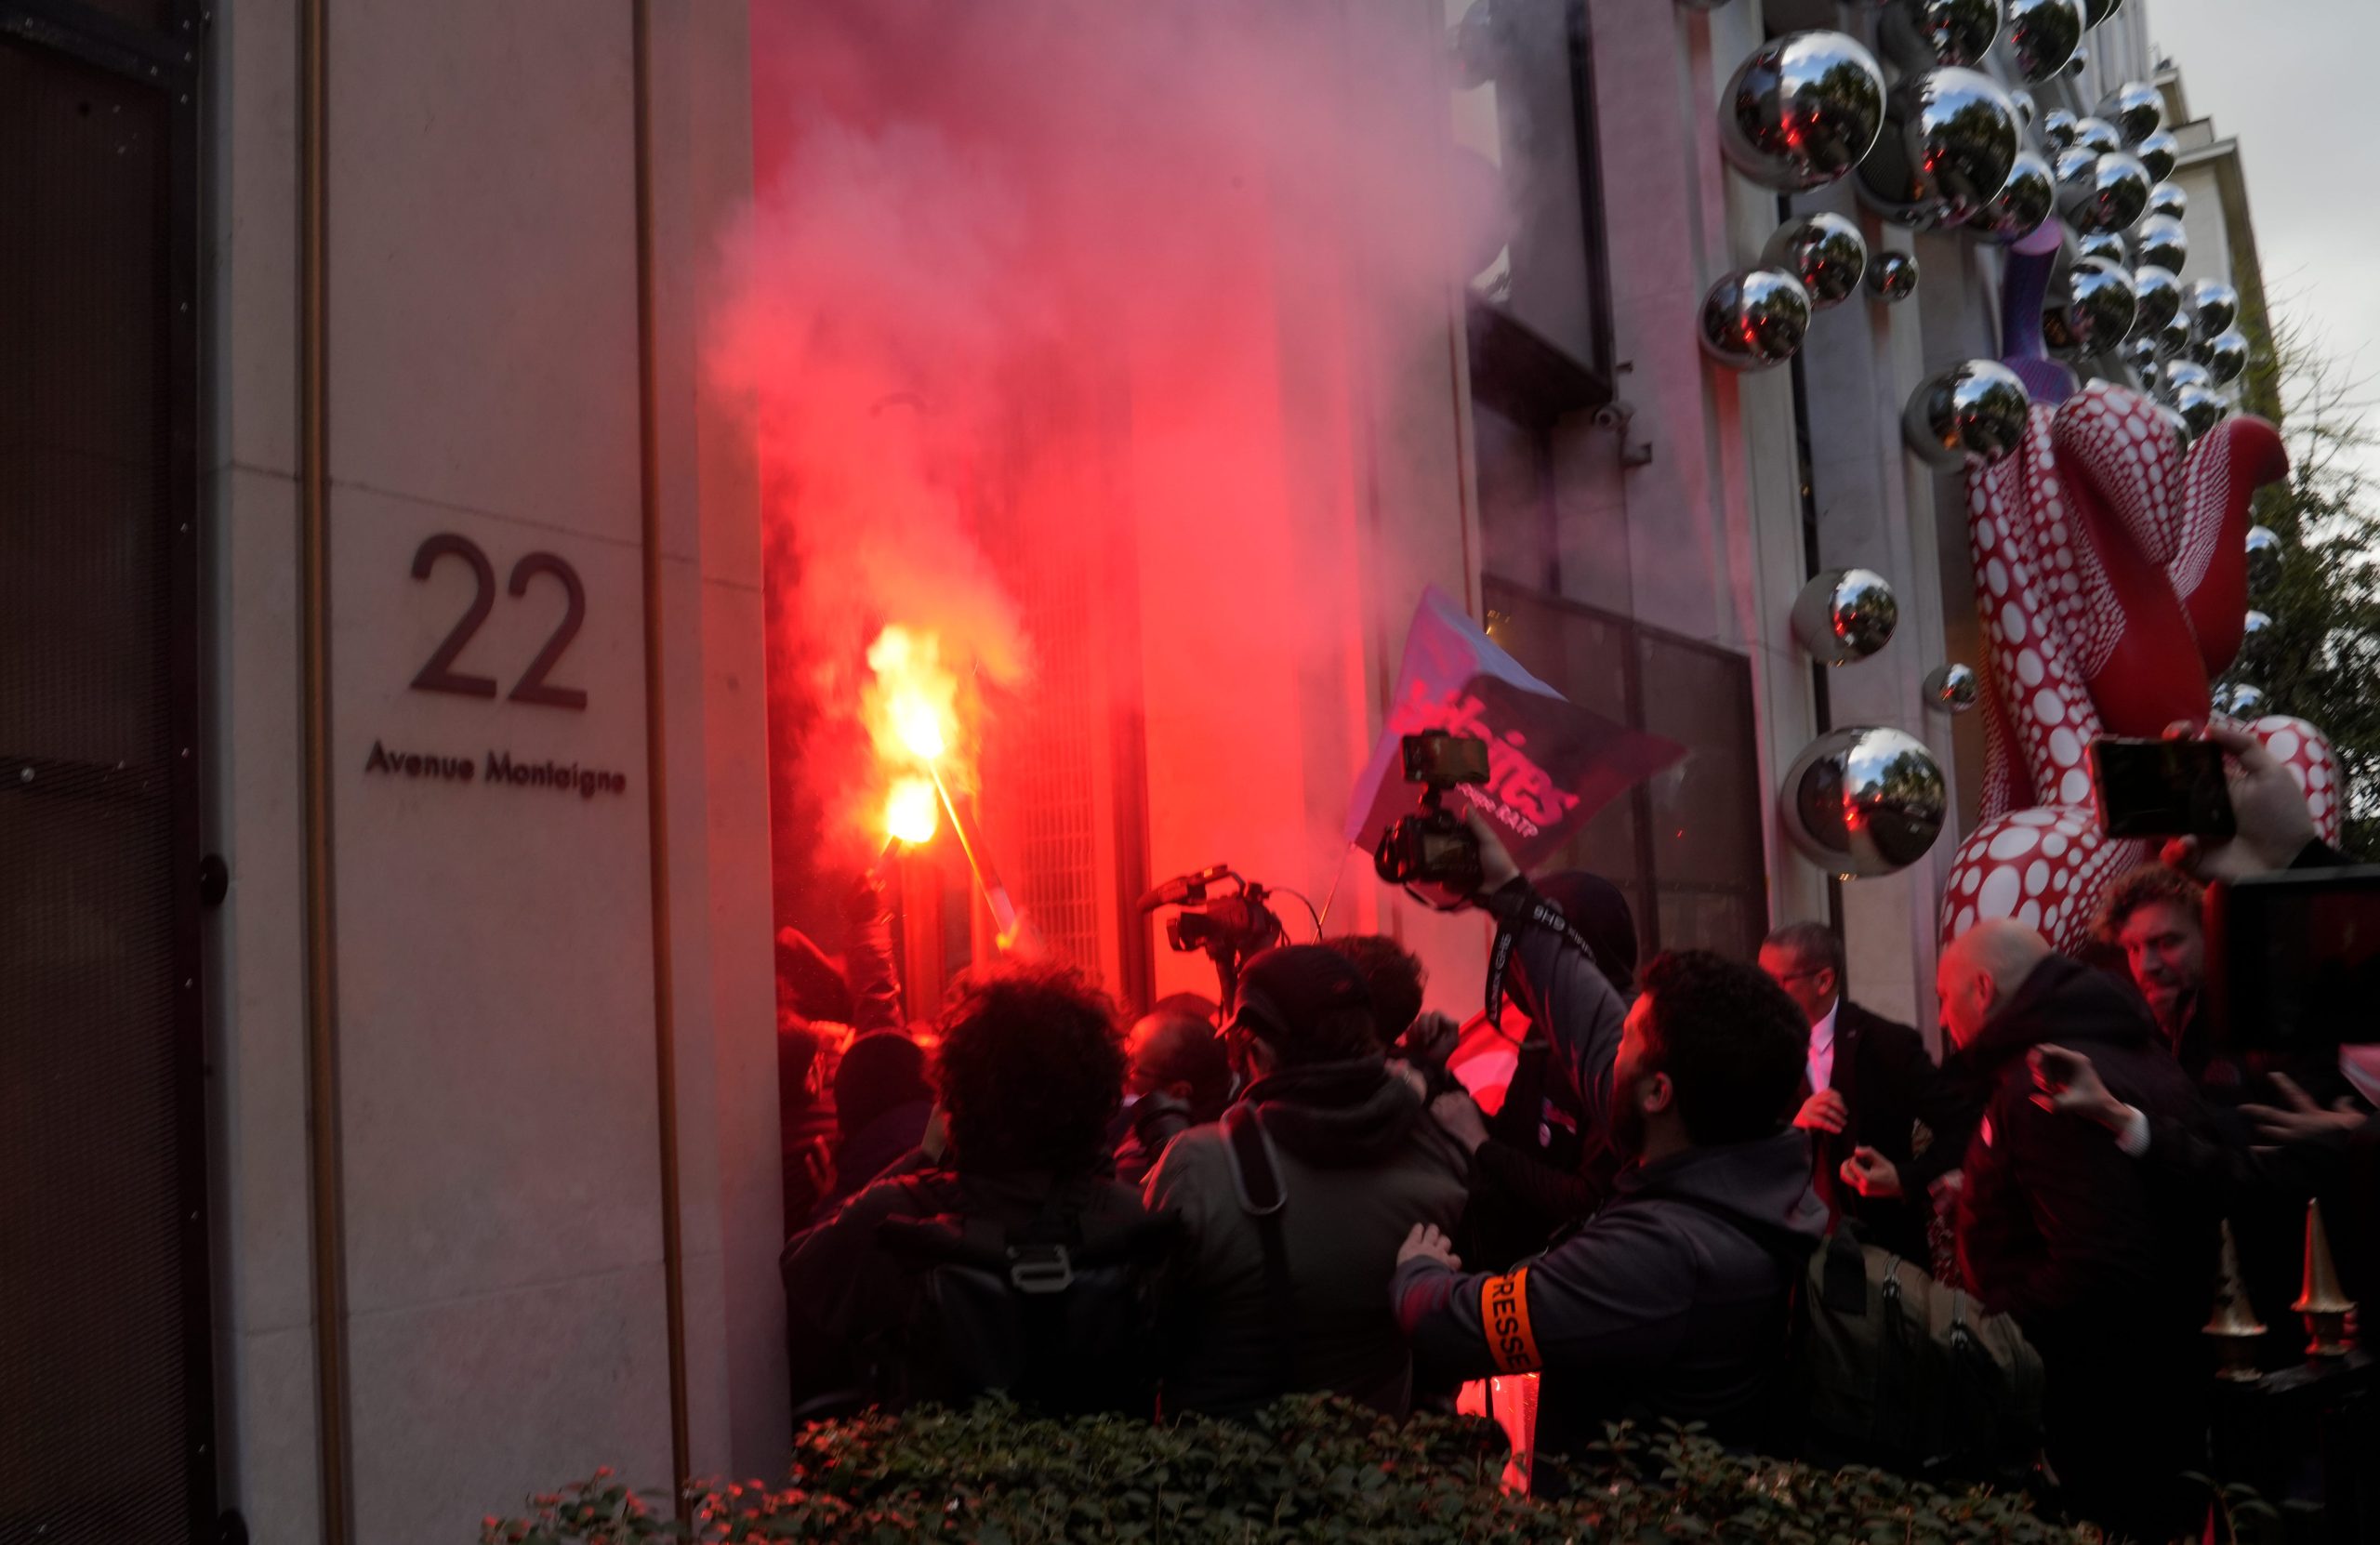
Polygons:
M2380 859L2380 500L2356 469L2373 436L2356 386L2299 336L2278 336L2271 359L2290 476L2256 495L2256 519L2280 536L2282 564L2249 595L2273 626L2232 676L2263 688L2261 712L2330 736L2347 769L2347 850Z

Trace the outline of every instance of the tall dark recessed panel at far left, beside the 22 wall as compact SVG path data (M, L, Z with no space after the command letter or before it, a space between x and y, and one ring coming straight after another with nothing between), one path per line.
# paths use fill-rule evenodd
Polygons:
M0 1540L214 1538L195 29L0 0Z

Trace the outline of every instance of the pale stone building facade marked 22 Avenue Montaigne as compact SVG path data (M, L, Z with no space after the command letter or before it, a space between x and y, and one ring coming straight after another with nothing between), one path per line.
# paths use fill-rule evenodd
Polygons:
M1571 845L1649 947L1837 917L1852 990L1930 1026L1956 831L1837 886L1775 790L1823 728L1899 726L1973 819L1980 726L1923 700L1980 662L1964 490L1899 417L1999 355L1999 252L1847 186L1785 202L1716 129L1766 36L1871 7L1380 10L1399 155L1452 140L1504 190L1478 279L1392 329L1259 205L1202 395L1130 355L1016 393L1007 443L1047 455L976 507L1040 695L988 733L990 852L1128 1002L1211 990L1135 897L1226 859L1404 938L1473 1012L1478 919L1338 840L1435 583L1687 748ZM2182 119L2142 12L2040 110L2156 79ZM31 1433L0 1535L236 1514L412 1545L597 1464L778 1474L771 936L831 905L814 767L771 719L788 495L709 367L721 252L785 157L776 14L0 0L0 186L31 212L0 236L0 1224L43 1262L0 1290ZM2199 129L2192 276L2247 288L2237 155ZM1818 317L1792 369L1711 369L1709 283L1821 207L1914 252L1916 298ZM1050 540L1069 500L1128 517ZM1223 543L1216 509L1261 519ZM1787 614L1835 567L1880 571L1902 628L1821 671ZM947 852L904 869L931 1012L992 928Z

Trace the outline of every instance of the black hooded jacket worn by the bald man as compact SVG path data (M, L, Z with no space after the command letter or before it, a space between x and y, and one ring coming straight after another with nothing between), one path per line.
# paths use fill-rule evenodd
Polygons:
M2044 1040L2087 1055L2109 1090L2152 1121L2213 1140L2156 1021L2099 971L2052 955L1966 1047L1990 1088L1959 1200L1968 1286L1994 1314L2016 1316L2052 1381L2061 1352L2197 1345L2213 1297L2213 1207L2152 1186L2097 1126L2040 1109L2025 1052Z

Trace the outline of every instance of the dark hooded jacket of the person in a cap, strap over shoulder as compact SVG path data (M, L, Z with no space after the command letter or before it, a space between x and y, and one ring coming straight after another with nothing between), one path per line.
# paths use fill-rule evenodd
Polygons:
M1273 1143L1295 1305L1292 1390L1333 1390L1373 1409L1411 1405L1414 1364L1388 1307L1397 1247L1414 1224L1452 1231L1468 1157L1378 1057L1292 1069L1247 1090ZM1285 1393L1264 1236L1240 1205L1221 1126L1173 1138L1147 1205L1178 1209L1169 1278L1164 1409L1240 1416Z

